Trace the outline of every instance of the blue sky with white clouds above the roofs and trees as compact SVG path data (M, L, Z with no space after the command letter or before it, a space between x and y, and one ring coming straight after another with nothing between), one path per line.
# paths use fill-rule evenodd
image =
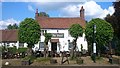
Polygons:
M27 0L26 0L27 1ZM25 2L22 0L3 0L0 3L0 29L6 29L9 24L19 25L25 18L35 18L36 9L46 12L50 17L79 17L81 6L85 9L85 19L102 18L114 13L112 1L96 2Z

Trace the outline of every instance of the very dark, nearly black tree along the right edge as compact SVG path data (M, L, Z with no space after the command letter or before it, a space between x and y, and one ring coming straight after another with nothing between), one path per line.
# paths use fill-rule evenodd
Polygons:
M120 55L120 1L113 2L115 12L113 15L107 15L105 20L109 22L114 28L113 43L116 46L116 54Z

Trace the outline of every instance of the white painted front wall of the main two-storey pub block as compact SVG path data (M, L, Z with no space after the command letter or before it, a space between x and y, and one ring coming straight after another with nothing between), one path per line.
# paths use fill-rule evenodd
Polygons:
M64 33L64 38L52 38L52 39L59 39L59 45L57 45L57 52L60 51L69 51L69 43L73 41L73 37L69 35L68 29L45 29L47 30L47 33ZM44 42L45 37L42 35L40 38L40 42ZM83 45L83 49L88 50L88 44L87 41L85 40L85 34L83 34L82 37L79 37L77 40L77 47L79 51L81 51L81 44ZM35 47L39 48L39 45L36 45ZM51 43L48 43L49 51L51 51ZM59 49L60 48L60 49Z

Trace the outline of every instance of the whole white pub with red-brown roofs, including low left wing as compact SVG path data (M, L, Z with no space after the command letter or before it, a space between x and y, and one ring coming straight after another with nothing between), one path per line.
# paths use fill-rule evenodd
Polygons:
M68 29L72 24L80 24L83 28L86 25L84 17L83 6L80 9L80 17L46 17L39 16L38 9L36 9L35 20L38 21L41 27L41 37L37 44L34 44L34 51L44 51L44 33L51 33L52 38L48 42L48 51L53 51L60 53L61 51L69 52L73 47L74 38L69 34ZM27 47L27 43L19 43L18 40L18 30L0 30L1 40L0 46L13 47ZM88 51L88 44L85 39L85 33L82 37L77 39L77 50L81 51L81 46L83 50Z

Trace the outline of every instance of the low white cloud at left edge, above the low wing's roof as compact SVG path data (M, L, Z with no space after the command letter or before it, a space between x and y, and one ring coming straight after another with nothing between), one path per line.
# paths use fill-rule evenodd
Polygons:
M4 21L1 20L1 21L0 21L0 29L6 29L9 24L13 25L13 24L15 24L15 23L16 23L17 25L19 25L20 21L16 21L16 20L14 20L13 18L7 19L7 20L4 20Z

